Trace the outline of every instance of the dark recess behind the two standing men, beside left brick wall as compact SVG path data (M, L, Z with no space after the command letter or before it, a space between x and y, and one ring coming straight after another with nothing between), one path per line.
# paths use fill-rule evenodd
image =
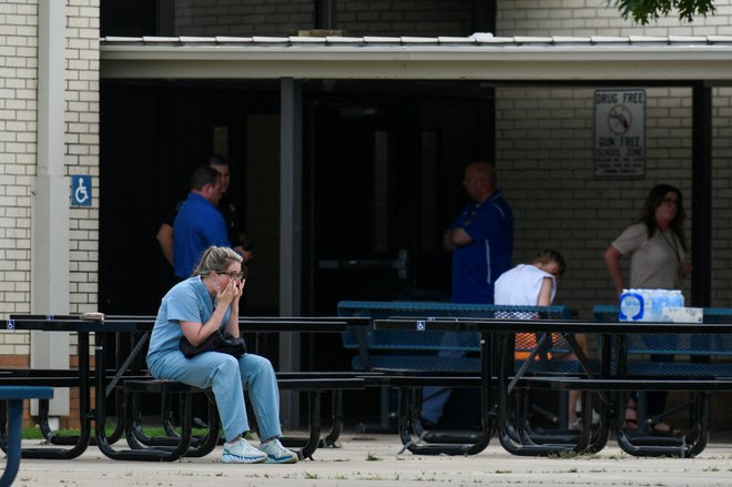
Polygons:
M276 113L277 92L211 83L102 84L100 310L154 314L176 280L155 235L212 153L230 163L231 200L246 219L246 114ZM246 227L245 223L241 224Z

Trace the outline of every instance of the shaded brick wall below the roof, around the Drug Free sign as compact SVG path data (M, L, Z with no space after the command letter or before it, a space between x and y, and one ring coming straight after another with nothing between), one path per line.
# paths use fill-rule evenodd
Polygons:
M691 90L647 89L645 177L633 180L594 176L594 89L498 91L496 160L515 211L515 260L559 250L569 267L557 301L590 317L614 301L602 253L638 219L648 190L668 182L691 194Z

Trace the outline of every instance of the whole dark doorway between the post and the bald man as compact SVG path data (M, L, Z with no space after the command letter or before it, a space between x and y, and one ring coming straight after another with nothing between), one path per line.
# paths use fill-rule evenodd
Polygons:
M415 87L311 93L312 286L304 290L314 315L335 315L348 300L449 301L443 232L465 203L465 164L492 142L490 118L470 90L450 97ZM309 369L349 369L353 355L339 336L303 341ZM377 390L345 402L353 419L379 419Z

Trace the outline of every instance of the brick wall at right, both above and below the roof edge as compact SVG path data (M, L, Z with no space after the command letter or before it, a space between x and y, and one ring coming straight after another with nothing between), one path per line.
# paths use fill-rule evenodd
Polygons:
M732 2L715 2L714 18L679 24L662 19L641 28L623 21L603 2L549 0L498 2L498 35L669 35L730 34ZM549 13L549 14L547 14ZM654 184L684 193L691 222L691 89L647 89L645 176L594 176L593 91L599 87L498 89L496 162L500 185L516 211L517 262L541 247L565 254L569 268L557 302L590 317L597 303L614 301L602 253L639 214ZM607 87L603 87L607 88ZM713 306L732 306L730 274L729 151L732 109L729 89L714 89ZM689 242L690 243L690 242ZM626 260L627 261L627 260ZM718 265L719 264L719 265ZM624 262L628 276L628 262ZM690 298L689 282L684 287Z

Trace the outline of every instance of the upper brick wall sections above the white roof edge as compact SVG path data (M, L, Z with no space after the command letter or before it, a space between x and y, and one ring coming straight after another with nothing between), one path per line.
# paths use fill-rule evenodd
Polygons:
M335 29L349 35L468 35L472 0L338 0ZM633 26L599 0L498 0L501 35L730 34L728 1L718 14L679 24L675 17ZM175 35L288 35L315 27L314 0L176 0Z

